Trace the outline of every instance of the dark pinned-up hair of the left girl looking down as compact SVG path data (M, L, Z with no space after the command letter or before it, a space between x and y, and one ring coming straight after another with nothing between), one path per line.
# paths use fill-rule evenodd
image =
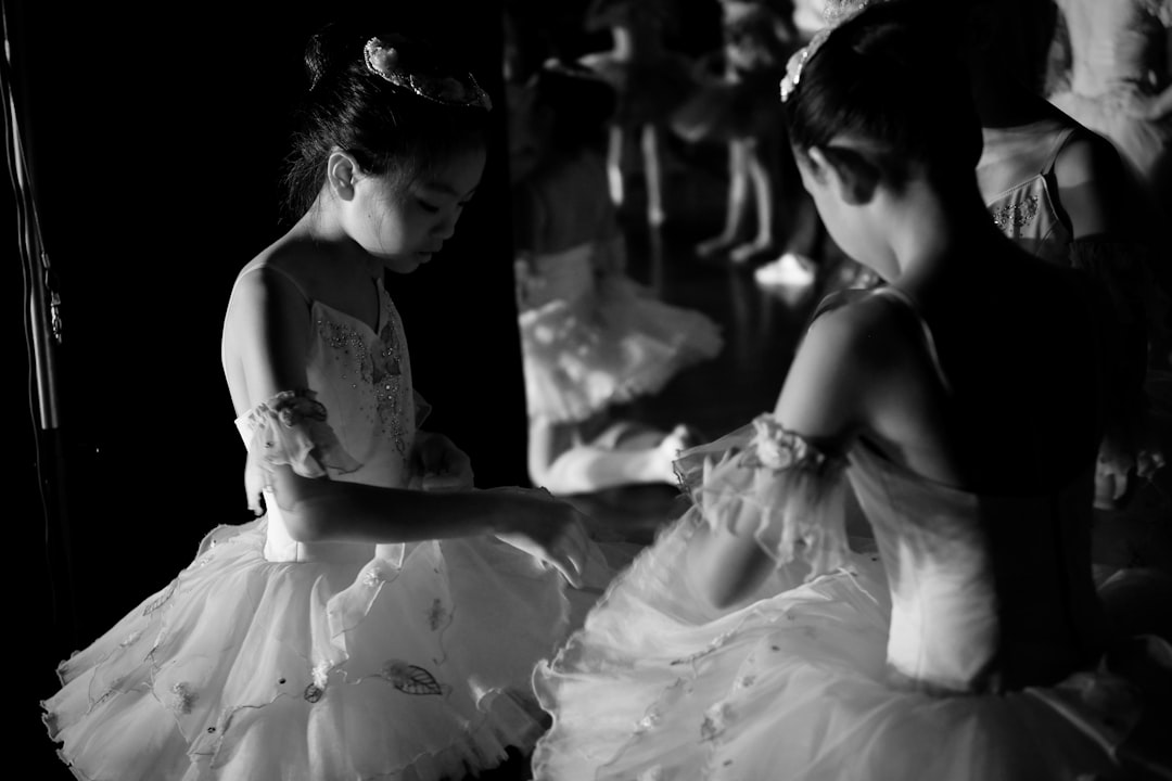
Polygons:
M321 191L335 148L366 171L409 181L452 153L485 143L488 111L420 97L370 71L363 47L380 33L328 25L309 39L309 90L295 111L293 149L285 160L286 207L293 219ZM395 46L411 70L466 74L427 41L396 39Z

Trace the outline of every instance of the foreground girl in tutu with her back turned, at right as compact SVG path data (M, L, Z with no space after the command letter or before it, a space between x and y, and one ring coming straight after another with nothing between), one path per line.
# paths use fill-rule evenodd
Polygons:
M536 779L1167 773L1172 648L1111 644L1088 562L1105 315L989 221L933 7L872 4L793 60L803 181L887 283L822 308L771 413L683 455L694 507L536 672Z

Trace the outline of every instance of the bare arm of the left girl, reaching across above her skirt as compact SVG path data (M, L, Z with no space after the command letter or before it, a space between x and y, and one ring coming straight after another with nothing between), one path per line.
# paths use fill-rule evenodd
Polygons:
M305 297L284 274L260 268L238 282L227 328L252 406L307 386L311 326ZM496 534L554 564L572 583L585 561L577 511L536 492L424 493L307 478L289 466L272 467L271 488L289 535L300 542L395 543Z

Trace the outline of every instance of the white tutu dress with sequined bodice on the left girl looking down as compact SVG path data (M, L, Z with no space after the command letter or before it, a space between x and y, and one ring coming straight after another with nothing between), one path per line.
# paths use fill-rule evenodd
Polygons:
M377 286L376 331L312 301L309 388L237 420L250 495L267 464L409 487L422 402ZM265 499L61 664L45 721L79 777L459 779L532 746L530 674L568 631L559 575L490 536L297 542Z

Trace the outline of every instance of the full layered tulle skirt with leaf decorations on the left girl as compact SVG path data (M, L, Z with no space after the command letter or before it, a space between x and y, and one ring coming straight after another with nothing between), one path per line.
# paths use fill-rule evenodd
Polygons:
M79 777L461 779L545 726L533 665L567 631L553 570L491 537L401 566L265 559L266 522L61 664L42 705Z

